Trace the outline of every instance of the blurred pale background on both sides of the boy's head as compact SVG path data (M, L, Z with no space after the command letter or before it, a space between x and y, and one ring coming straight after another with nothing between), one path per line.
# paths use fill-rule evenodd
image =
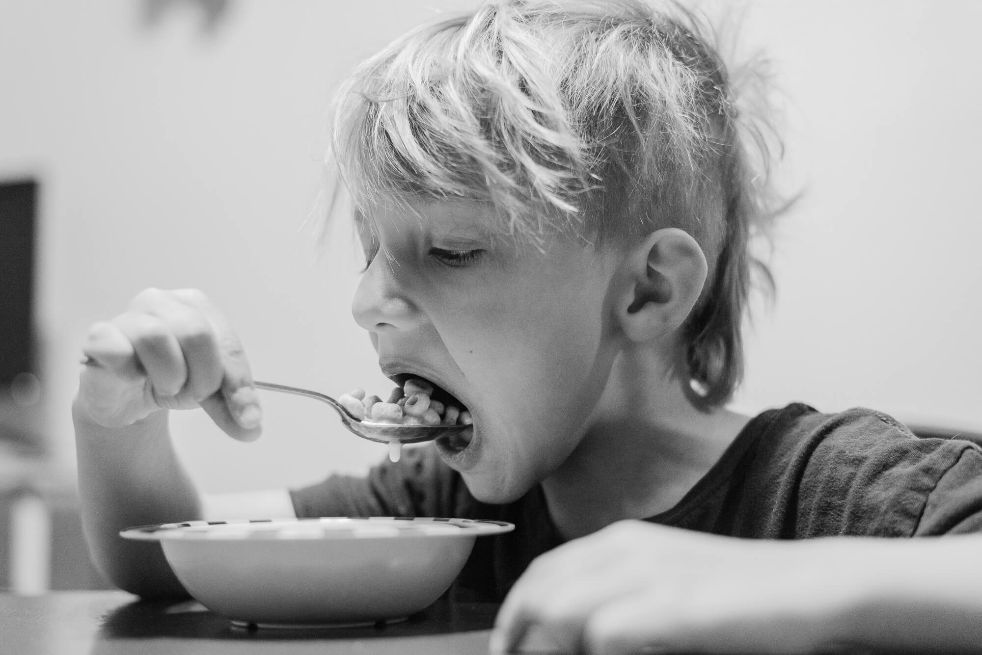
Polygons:
M350 227L317 246L326 115L357 62L472 0L0 0L0 587L100 586L70 415L87 327L148 286L204 290L256 378L386 391L349 307ZM736 405L872 406L982 429L982 4L736 7L783 91L777 231ZM263 438L175 418L208 491L363 472L384 448L326 407L264 397Z

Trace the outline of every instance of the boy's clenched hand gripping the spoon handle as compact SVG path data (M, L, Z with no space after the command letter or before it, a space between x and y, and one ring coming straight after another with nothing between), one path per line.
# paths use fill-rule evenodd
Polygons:
M147 289L126 312L89 328L79 403L107 428L162 409L202 407L237 439L259 435L246 354L225 318L195 289Z

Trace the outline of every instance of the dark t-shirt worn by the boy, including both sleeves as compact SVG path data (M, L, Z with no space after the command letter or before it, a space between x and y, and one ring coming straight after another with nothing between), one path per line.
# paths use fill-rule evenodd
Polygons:
M474 499L432 447L366 478L292 491L299 517L493 519L513 532L477 539L452 593L500 601L536 556L562 543L541 487L507 505ZM652 523L748 538L920 536L982 530L982 449L921 439L866 409L791 404L752 419L713 468Z

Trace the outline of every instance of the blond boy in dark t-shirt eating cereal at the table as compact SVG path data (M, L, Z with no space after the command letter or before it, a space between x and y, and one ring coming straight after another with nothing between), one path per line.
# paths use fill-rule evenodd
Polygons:
M977 580L899 575L976 537L789 540L982 529L978 448L864 410L724 407L759 266L747 242L773 214L735 79L691 16L640 0L489 3L369 60L334 144L367 263L355 321L389 377L456 398L471 439L366 479L201 497L167 410L255 438L246 355L200 292L145 291L84 345L99 567L183 593L118 531L197 517L503 519L516 531L479 543L455 589L505 600L496 651L532 627L597 653L982 643Z

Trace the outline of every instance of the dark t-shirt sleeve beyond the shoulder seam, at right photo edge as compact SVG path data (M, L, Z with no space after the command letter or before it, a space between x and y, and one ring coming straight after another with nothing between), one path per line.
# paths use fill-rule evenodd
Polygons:
M924 503L915 536L982 532L982 449L967 441Z

